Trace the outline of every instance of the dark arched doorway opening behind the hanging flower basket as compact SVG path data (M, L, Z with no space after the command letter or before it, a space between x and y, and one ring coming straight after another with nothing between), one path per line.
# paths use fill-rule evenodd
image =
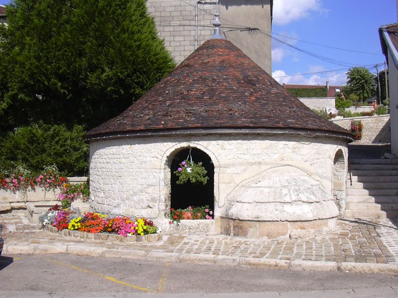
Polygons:
M187 208L188 206L209 205L214 210L214 165L205 152L197 148L191 148L192 159L195 163L202 162L202 166L207 170L206 185L186 183L177 184L177 176L174 171L179 168L179 163L185 160L190 148L182 149L174 156L171 162L171 208Z

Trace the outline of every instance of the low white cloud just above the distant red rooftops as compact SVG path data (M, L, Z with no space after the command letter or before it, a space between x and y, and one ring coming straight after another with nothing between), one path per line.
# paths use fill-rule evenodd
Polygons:
M310 67L311 68L311 67ZM312 69L321 69L323 70L322 66L312 67ZM296 85L321 85L325 86L326 81L329 81L331 86L342 86L346 84L347 75L345 71L342 72L330 72L330 73L321 73L321 74L314 74L309 77L305 77L301 74L293 74L288 75L283 70L276 70L272 72L272 77L275 78L279 82L279 84L296 84Z

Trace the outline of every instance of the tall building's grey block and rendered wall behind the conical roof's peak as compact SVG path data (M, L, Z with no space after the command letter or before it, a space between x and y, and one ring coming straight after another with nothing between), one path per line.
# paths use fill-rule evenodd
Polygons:
M195 50L196 0L147 0L147 8L156 23L158 35L177 63ZM208 40L214 28L216 1L198 5L198 46ZM231 27L255 27L271 32L270 0L220 0L221 31ZM271 75L271 38L263 34L229 31L226 37Z

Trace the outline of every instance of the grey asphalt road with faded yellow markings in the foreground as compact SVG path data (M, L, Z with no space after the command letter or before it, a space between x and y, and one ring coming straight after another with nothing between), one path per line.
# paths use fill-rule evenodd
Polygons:
M363 289L364 293L369 289L371 294L390 286L397 288L397 275L266 270L69 254L0 257L0 297L49 297L50 293L51 297L63 297L62 293L86 294L85 297L99 293L104 297L125 294L153 297L168 293L173 293L173 297L182 293L245 293L246 296L259 292L293 294L292 291L353 288Z

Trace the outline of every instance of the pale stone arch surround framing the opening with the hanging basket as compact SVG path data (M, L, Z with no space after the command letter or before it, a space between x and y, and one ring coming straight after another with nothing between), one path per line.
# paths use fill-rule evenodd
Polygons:
M183 142L176 144L167 150L165 150L162 158L161 158L161 165L162 167L160 168L160 179L163 180L163 183L159 183L159 193L164 194L164 203L165 203L165 213L169 212L170 207L171 207L171 192L172 192L172 185L171 185L171 176L172 176L172 170L171 166L173 163L174 157L181 151L186 150L186 149L199 149L203 153L205 153L208 157L209 160L211 160L214 170L213 170L213 205L214 208L217 210L217 202L219 201L219 170L220 170L220 164L219 160L217 159L216 155L208 148L202 146L201 144L195 143L195 142ZM214 210L214 214L216 214L216 210Z

